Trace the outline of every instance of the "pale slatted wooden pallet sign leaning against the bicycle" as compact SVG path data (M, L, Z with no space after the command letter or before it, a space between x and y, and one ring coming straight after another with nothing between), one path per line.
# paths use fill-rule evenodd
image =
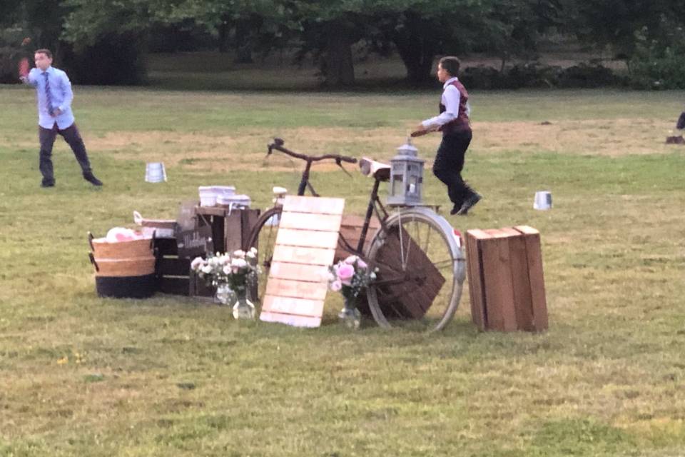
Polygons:
M318 327L344 199L286 196L260 319Z

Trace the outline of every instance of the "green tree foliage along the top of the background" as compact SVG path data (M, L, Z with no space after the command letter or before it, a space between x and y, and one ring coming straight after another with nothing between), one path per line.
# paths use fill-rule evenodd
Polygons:
M436 56L483 53L503 70L563 34L624 59L647 86L685 87L684 22L685 2L672 0L4 1L0 60L29 51L19 43L30 36L79 82L138 84L156 34L201 31L241 61L283 50L314 59L330 87L355 84L353 49L397 53L407 81L420 86Z

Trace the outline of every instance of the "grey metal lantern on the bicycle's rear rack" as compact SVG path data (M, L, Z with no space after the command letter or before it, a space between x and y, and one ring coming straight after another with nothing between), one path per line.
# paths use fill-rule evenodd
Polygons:
M388 205L415 206L422 203L423 160L417 157L418 149L407 138L397 148L397 156L390 159L390 195Z

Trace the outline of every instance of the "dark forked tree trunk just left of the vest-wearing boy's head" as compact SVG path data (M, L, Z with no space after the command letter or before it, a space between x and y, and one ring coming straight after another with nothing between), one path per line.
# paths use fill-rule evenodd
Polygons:
M407 69L407 80L412 86L423 86L430 81L433 56L438 40L432 33L432 24L423 23L415 12L405 13L405 27L392 34L402 63Z

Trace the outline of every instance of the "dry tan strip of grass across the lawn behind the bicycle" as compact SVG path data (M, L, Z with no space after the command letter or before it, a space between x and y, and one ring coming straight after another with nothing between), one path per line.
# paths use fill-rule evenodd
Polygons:
M472 151L553 152L621 156L624 154L664 154L678 145L666 145L670 124L654 119L600 119L583 121L476 122ZM389 160L405 141L409 131L397 128L375 129L299 127L278 132L285 146L305 154L336 153L352 157L370 156ZM86 138L88 149L105 151L117 159L165 161L168 166L196 170L290 171L300 163L284 154L266 156L270 136L260 129L241 129L236 134L221 132L123 131ZM425 158L432 158L440 135L414 141ZM320 165L333 169L335 164Z

